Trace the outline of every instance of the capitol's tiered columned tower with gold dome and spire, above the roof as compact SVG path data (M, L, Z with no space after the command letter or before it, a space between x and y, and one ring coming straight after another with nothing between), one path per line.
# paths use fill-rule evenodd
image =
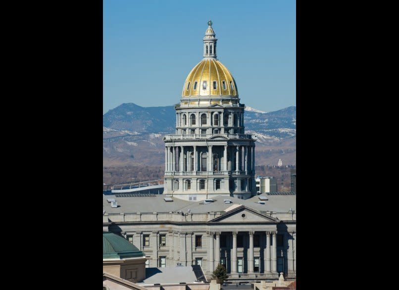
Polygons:
M217 60L216 42L208 21L203 59L187 76L175 106L176 134L164 138L164 194L185 200L256 194L256 137L245 134L245 105L233 76Z

